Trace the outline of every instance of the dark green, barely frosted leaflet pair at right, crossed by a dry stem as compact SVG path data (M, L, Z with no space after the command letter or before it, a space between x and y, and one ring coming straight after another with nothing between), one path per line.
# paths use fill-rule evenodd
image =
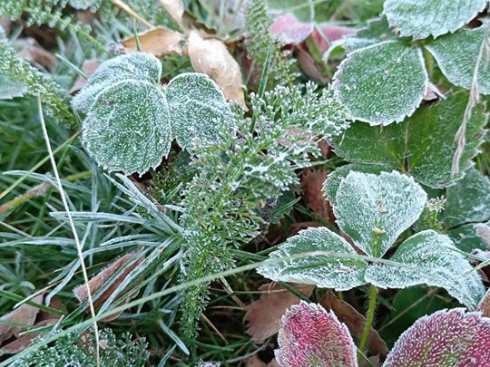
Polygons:
M468 94L457 92L436 106L422 106L400 124L372 127L354 122L342 136L332 137L332 144L335 152L347 160L407 171L431 188L451 186L471 167L487 119L481 107L475 108L466 127L466 147L460 160L462 169L453 177L454 137L463 121L467 102Z

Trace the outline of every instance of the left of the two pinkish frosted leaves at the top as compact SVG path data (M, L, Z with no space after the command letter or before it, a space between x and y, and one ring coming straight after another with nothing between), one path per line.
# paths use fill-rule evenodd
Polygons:
M286 44L302 43L313 32L312 23L301 23L294 15L280 15L270 25L270 34Z

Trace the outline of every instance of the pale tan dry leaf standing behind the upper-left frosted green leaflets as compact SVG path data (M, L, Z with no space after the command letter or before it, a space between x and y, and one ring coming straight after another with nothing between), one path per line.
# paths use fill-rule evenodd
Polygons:
M228 100L248 111L243 95L240 65L220 40L203 40L198 32L189 35L189 57L196 72L203 72L218 84Z

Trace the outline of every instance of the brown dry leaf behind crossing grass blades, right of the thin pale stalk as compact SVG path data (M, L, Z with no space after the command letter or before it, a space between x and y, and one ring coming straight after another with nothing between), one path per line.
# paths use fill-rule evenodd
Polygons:
M109 279L122 267L125 266L127 263L129 263L132 258L137 254L137 251L134 251L132 253L129 253L125 256L122 256L120 259L116 260L111 266L106 267L101 271L98 275L95 275L90 281L89 281L89 288L90 288L90 293L93 295L95 292L97 292L103 285L105 285ZM133 269L136 268L136 266L139 266L144 259L144 256L141 256L134 264L131 266L127 266L127 268L122 272L121 275L117 277L117 279L113 280L113 284L107 288L102 295L99 296L94 302L93 302L93 307L97 308L100 305L102 305L112 294L113 292L117 289L119 285L122 284L122 281L128 276ZM87 294L87 287L86 285L79 285L75 289L73 289L73 294L78 298L78 300L82 303L87 300L88 294ZM136 295L138 295L138 291L131 292L131 290L127 291L125 294L122 294L121 296L125 296L126 300L125 303L129 302L130 299L134 298ZM103 319L104 321L110 321L115 318L117 318L119 314L113 314L111 316L108 316L107 318Z

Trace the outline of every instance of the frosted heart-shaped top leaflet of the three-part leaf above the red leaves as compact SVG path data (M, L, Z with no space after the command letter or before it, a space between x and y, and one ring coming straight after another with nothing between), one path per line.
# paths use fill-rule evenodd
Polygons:
M337 224L362 251L381 257L422 214L426 192L397 171L351 171L338 186Z

